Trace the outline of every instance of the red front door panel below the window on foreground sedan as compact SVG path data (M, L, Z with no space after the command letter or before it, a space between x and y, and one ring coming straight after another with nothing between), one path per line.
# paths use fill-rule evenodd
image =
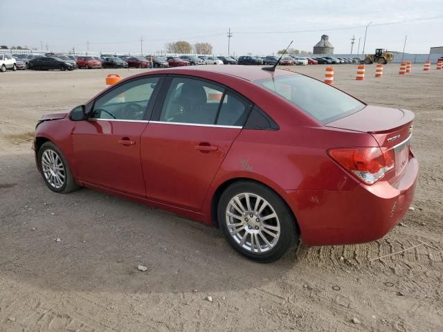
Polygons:
M125 194L145 197L140 136L147 122L88 120L75 122L71 134L77 177ZM123 145L119 140L132 140Z

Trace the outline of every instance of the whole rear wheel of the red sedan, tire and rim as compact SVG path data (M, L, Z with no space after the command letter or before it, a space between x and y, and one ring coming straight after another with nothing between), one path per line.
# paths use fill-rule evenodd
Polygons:
M254 261L275 261L298 243L291 210L278 194L260 183L230 185L221 194L217 216L230 245Z

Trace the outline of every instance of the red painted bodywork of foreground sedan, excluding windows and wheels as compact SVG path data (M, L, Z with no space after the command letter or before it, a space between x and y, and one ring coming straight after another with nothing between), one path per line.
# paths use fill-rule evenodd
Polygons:
M208 224L214 222L213 196L221 185L238 178L259 181L289 205L303 241L310 245L379 239L406 213L417 183L418 164L412 153L401 173L391 170L374 185L363 185L327 151L391 149L408 137L412 112L368 106L323 125L288 100L250 82L298 74L270 73L253 66L187 66L135 77L174 74L228 86L263 109L280 129L147 121L73 122L66 114L51 114L38 125L36 138L55 142L82 185ZM398 140L391 140L398 135ZM118 142L125 138L134 144ZM199 145L217 149L202 151L196 149Z

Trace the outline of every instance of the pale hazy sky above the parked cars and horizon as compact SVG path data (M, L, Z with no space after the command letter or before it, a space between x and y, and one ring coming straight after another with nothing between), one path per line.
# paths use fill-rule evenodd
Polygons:
M370 22L372 22L370 24ZM428 53L443 46L443 1L435 0L0 0L0 44L102 53L165 51L165 43L209 42L215 55L312 51L329 35L334 53L375 48ZM5 33L7 31L7 33ZM87 42L89 41L89 46ZM42 48L43 46L43 48Z

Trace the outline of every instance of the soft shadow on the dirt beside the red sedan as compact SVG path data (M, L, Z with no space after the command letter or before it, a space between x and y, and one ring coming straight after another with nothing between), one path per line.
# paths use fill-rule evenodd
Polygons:
M229 291L259 288L298 264L296 248L254 263L219 230L147 205L84 188L55 194L33 154L2 156L0 187L0 274L40 288Z

